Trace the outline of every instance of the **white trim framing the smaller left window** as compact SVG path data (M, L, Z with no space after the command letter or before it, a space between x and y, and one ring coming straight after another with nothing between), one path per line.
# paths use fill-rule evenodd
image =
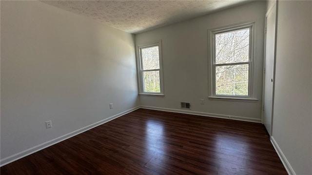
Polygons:
M159 52L159 81L160 81L160 93L144 92L143 82L143 65L141 59L141 49L146 47L158 46ZM162 69L162 51L161 51L161 40L150 44L139 44L137 46L137 76L138 76L138 88L139 95L149 96L164 96L164 83L163 83L163 69ZM158 69L157 69L158 70Z

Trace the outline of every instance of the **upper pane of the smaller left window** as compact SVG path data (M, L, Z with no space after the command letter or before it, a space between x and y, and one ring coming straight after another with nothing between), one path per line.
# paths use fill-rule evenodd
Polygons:
M141 49L143 70L159 69L158 46Z

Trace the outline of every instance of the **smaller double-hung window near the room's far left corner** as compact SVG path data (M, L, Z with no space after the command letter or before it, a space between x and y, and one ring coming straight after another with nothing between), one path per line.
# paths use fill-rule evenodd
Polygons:
M139 93L163 95L161 42L138 46Z

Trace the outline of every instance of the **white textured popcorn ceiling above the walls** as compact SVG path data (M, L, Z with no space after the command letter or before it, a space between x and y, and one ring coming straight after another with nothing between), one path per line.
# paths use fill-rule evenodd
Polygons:
M195 18L247 0L44 0L117 29L139 33Z

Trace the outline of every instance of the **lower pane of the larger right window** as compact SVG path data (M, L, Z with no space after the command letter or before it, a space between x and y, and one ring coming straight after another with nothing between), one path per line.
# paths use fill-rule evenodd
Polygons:
M216 66L215 94L248 96L249 64Z

